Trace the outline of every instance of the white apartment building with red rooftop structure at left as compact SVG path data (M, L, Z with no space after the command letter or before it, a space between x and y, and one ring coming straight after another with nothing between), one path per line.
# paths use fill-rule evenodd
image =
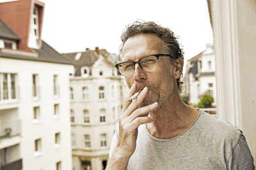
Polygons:
M72 169L72 63L41 39L44 3L0 3L0 169Z

